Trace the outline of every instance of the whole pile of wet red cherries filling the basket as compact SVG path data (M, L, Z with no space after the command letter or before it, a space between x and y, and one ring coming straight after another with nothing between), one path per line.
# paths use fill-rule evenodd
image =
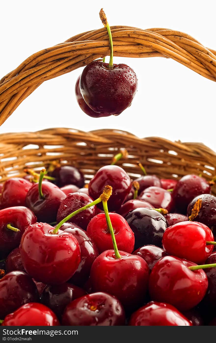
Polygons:
M114 163L27 169L0 188L3 326L216 324L216 197L201 176ZM108 212L108 208L109 211Z

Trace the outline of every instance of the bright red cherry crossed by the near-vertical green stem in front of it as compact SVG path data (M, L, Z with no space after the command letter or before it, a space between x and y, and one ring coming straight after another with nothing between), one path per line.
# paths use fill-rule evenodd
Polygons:
M109 215L118 249L132 253L135 238L125 218L117 213L109 213ZM87 234L93 238L100 253L113 248L110 229L107 227L104 213L97 214L92 218L87 227Z

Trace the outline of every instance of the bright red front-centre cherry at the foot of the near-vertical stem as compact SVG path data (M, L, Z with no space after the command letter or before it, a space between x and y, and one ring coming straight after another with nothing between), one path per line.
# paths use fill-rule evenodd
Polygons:
M101 253L91 267L94 292L105 292L117 297L127 310L137 308L144 301L149 281L148 264L140 257L114 250Z

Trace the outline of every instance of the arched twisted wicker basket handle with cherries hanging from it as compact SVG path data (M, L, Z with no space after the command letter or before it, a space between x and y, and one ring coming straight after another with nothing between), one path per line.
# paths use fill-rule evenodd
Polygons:
M165 28L112 26L114 56L167 57L216 81L216 51L191 36ZM85 32L36 52L0 80L0 125L42 82L109 55L106 28Z

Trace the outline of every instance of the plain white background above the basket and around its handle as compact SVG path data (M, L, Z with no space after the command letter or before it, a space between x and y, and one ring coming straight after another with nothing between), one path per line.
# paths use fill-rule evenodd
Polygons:
M101 7L110 25L171 28L216 49L214 0L1 0L0 76L43 48L102 27ZM118 62L131 66L139 80L134 102L120 116L95 119L80 110L74 85L81 70L75 70L37 88L0 127L0 133L49 127L118 128L139 137L203 142L216 150L216 83L171 59L114 58L114 63Z

